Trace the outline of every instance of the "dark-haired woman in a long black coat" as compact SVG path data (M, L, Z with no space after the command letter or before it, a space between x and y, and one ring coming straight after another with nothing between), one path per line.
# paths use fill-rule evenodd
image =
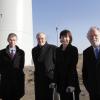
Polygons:
M78 50L71 45L72 35L69 30L60 33L60 47L56 50L55 82L61 100L73 100L72 92L75 92L75 100L79 100L79 82L76 70L78 62Z

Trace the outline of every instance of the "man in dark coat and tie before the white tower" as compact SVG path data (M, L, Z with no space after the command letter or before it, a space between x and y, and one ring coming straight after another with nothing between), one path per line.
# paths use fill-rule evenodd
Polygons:
M20 100L24 95L24 51L17 45L17 35L8 35L9 45L0 51L1 96L3 100Z

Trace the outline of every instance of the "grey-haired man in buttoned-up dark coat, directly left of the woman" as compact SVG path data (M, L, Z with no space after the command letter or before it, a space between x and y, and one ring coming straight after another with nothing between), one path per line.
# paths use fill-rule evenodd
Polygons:
M38 33L36 38L38 45L32 49L35 100L52 100L49 85L53 82L56 46L47 43L44 33Z

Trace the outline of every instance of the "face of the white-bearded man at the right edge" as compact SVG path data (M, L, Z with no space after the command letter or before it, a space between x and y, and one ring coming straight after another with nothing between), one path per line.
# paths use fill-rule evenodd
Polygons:
M94 47L100 46L100 32L96 29L91 30L89 40Z

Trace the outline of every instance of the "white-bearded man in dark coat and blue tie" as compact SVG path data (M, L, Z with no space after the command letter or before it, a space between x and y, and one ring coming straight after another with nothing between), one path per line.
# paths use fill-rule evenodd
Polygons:
M90 100L100 100L100 29L91 27L87 38L91 46L83 51L83 83Z

